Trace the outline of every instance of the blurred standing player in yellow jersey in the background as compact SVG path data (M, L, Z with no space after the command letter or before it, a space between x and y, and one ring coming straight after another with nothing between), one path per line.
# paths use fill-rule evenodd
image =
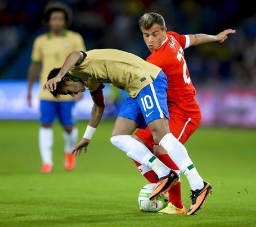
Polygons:
M32 86L40 73L40 86L47 81L48 72L53 67L60 67L66 56L73 50L85 50L83 38L74 31L67 30L71 24L71 10L62 3L50 3L44 9L43 23L48 27L48 33L39 35L33 45L32 63L28 75L28 104L32 104ZM39 150L42 157L42 173L50 173L53 168L52 123L56 116L64 128L65 140L65 169L73 170L75 157L71 151L77 141L78 130L74 127L73 109L75 99L63 96L59 100L53 99L50 92L40 89L40 122Z

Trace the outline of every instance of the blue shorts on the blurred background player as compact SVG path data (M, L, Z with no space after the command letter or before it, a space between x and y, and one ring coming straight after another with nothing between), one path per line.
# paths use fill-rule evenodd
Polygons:
M52 124L56 116L62 126L73 126L75 101L40 101L40 123Z

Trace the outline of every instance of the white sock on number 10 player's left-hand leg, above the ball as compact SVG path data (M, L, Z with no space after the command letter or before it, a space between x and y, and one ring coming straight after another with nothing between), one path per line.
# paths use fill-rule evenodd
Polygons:
M128 157L131 157L131 159L154 170L158 178L169 174L170 169L153 155L143 143L135 140L132 136L113 136L110 138L110 141L113 145L124 151Z

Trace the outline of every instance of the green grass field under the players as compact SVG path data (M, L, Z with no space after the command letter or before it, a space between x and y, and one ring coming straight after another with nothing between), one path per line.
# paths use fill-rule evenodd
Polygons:
M80 136L87 122L79 122ZM111 145L113 122L102 122L73 172L63 169L61 128L55 125L53 173L39 173L37 122L0 122L0 226L256 226L256 132L200 128L186 143L213 196L194 216L139 211L147 182ZM183 202L190 205L182 177Z

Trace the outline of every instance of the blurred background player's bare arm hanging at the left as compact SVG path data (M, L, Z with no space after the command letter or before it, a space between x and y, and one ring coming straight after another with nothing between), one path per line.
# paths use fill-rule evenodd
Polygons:
M41 70L41 64L37 64L32 62L29 66L29 73L28 73L28 94L26 96L26 100L28 101L28 105L32 106L32 86L34 82L37 80L39 76L39 72Z

